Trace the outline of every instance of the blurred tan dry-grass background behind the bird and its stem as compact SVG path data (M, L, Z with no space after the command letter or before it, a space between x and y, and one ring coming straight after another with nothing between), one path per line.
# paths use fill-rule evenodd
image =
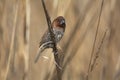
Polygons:
M62 80L120 80L120 0L104 0L102 11L103 0L44 1L51 21L66 19ZM0 0L0 80L57 80L52 49L34 63L47 28L41 0Z

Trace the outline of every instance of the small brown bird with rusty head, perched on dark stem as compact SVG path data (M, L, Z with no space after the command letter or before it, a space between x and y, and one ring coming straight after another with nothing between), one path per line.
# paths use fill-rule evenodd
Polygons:
M53 20L52 22L52 27L53 27L53 33L55 35L55 41L58 43L61 38L64 35L65 32L65 19L62 16L57 17L56 19ZM53 47L53 42L51 40L50 32L47 30L44 35L42 36L42 39L40 41L39 45L39 50L37 52L37 56L35 58L35 63L38 61L40 54L47 48L52 48Z

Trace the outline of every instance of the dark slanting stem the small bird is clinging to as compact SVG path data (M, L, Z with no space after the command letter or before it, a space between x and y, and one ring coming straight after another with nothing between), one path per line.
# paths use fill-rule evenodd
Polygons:
M48 29L49 29L50 36L51 36L51 40L53 42L53 53L54 53L54 59L55 59L55 62L56 62L57 79L62 80L62 78L61 78L62 76L61 76L60 60L59 60L59 57L58 57L59 52L58 52L58 49L56 47L55 36L54 36L54 33L53 33L50 16L49 16L49 14L47 12L44 0L42 0L42 5L43 5L43 8L44 8L44 12L45 12L45 16L46 16Z

